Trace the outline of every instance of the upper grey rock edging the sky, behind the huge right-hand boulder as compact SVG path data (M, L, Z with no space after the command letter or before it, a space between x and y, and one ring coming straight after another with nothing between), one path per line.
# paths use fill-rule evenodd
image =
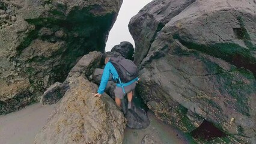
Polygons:
M147 4L136 16L130 19L129 31L135 41L135 64L140 64L147 56L151 43L166 23L195 0L161 0Z

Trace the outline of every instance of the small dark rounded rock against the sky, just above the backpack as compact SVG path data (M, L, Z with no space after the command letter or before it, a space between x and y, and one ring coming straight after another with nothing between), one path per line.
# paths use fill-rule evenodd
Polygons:
M120 44L115 45L111 49L111 52L120 53L121 56L123 56L126 59L133 59L134 48L130 42L123 41Z

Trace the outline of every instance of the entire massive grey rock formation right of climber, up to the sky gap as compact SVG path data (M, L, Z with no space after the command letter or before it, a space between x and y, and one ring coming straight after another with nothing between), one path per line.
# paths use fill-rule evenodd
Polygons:
M253 0L146 5L129 29L147 106L186 132L212 122L228 135L215 142L256 143L255 13Z

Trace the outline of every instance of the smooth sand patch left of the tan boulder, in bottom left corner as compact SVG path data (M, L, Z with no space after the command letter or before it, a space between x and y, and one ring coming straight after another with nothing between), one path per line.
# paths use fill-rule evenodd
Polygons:
M36 103L17 112L0 115L0 143L34 143L35 135L43 129L54 106Z

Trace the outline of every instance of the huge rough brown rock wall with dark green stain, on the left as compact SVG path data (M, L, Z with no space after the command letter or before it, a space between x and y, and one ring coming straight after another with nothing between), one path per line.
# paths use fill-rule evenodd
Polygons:
M37 101L85 54L104 52L122 2L2 0L0 115Z

